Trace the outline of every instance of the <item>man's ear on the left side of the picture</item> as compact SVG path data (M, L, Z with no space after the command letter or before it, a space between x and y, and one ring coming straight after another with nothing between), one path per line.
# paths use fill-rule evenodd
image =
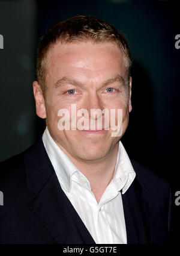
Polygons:
M43 92L42 92L41 87L37 81L34 81L32 86L33 86L35 108L36 108L37 116L44 119L44 118L46 118L46 106L45 106L45 102L44 102Z

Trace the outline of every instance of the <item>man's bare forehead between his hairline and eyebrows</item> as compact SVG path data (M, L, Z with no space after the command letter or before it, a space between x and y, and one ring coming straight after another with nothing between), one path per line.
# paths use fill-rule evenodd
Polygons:
M115 43L77 42L53 45L47 54L47 78L125 76L124 54Z

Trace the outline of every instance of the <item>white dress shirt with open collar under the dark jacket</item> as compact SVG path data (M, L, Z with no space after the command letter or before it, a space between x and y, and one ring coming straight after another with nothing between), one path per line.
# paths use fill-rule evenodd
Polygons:
M43 143L62 190L95 243L127 243L121 193L124 194L128 190L136 173L121 141L115 174L99 203L91 191L88 179L59 148L47 127L43 134Z

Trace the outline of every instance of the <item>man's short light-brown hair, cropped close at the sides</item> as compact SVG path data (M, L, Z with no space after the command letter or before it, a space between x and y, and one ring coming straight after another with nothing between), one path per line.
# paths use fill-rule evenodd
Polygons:
M44 94L46 92L46 57L50 47L55 45L56 42L71 43L86 40L95 43L116 43L124 54L129 81L131 55L124 34L104 20L92 16L77 15L50 28L40 40L37 57L37 81Z

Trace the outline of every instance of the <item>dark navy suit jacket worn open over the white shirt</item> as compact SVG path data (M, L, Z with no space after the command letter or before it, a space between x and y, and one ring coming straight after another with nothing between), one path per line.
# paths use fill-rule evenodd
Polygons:
M122 195L127 243L168 243L170 186L131 163L136 178ZM41 138L0 168L0 243L95 243L62 191Z

